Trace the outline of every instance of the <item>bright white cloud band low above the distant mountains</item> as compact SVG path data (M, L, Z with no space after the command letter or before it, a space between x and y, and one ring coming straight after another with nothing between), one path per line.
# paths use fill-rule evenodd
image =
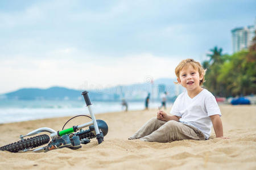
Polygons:
M118 84L144 82L147 76L154 79L173 78L180 59L138 54L103 59L6 59L0 63L3 81L0 93L20 87L64 86L69 88L109 87Z

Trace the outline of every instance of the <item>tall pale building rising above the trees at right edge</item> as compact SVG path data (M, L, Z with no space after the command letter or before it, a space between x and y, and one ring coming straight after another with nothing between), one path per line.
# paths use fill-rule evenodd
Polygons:
M236 53L250 47L253 37L255 36L255 25L234 28L231 32L233 53Z

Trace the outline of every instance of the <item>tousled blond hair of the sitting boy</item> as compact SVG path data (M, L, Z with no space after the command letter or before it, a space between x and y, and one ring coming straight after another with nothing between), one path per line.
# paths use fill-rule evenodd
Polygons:
M179 65L177 65L176 69L175 69L175 74L177 76L177 78L180 77L180 71L187 65L191 65L194 69L196 69L199 72L199 76L203 75L203 79L200 80L200 86L203 86L203 83L205 82L204 80L204 75L205 75L205 71L203 66L200 64L200 62L195 61L194 59L188 58L188 59L183 59L183 61L181 61L179 63ZM177 84L178 82L174 82L175 84Z

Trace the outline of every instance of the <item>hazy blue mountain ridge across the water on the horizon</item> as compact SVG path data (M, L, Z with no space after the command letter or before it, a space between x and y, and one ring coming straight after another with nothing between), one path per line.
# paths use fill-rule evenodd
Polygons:
M88 90L92 100L144 100L150 92L152 98L159 99L160 92L168 91L171 96L175 92L175 79L161 78L154 83L136 83L130 85L119 85L99 90ZM0 99L11 100L81 100L81 92L71 88L53 86L43 88L20 88L19 90L0 95Z

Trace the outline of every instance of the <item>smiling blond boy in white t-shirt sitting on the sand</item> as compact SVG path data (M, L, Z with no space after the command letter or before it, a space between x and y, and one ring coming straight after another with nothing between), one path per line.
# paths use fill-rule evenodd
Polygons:
M178 84L186 91L180 94L171 115L157 113L129 139L148 142L172 142L183 139L206 140L213 125L217 138L223 137L221 112L215 97L202 88L205 70L199 62L184 59L175 69Z

